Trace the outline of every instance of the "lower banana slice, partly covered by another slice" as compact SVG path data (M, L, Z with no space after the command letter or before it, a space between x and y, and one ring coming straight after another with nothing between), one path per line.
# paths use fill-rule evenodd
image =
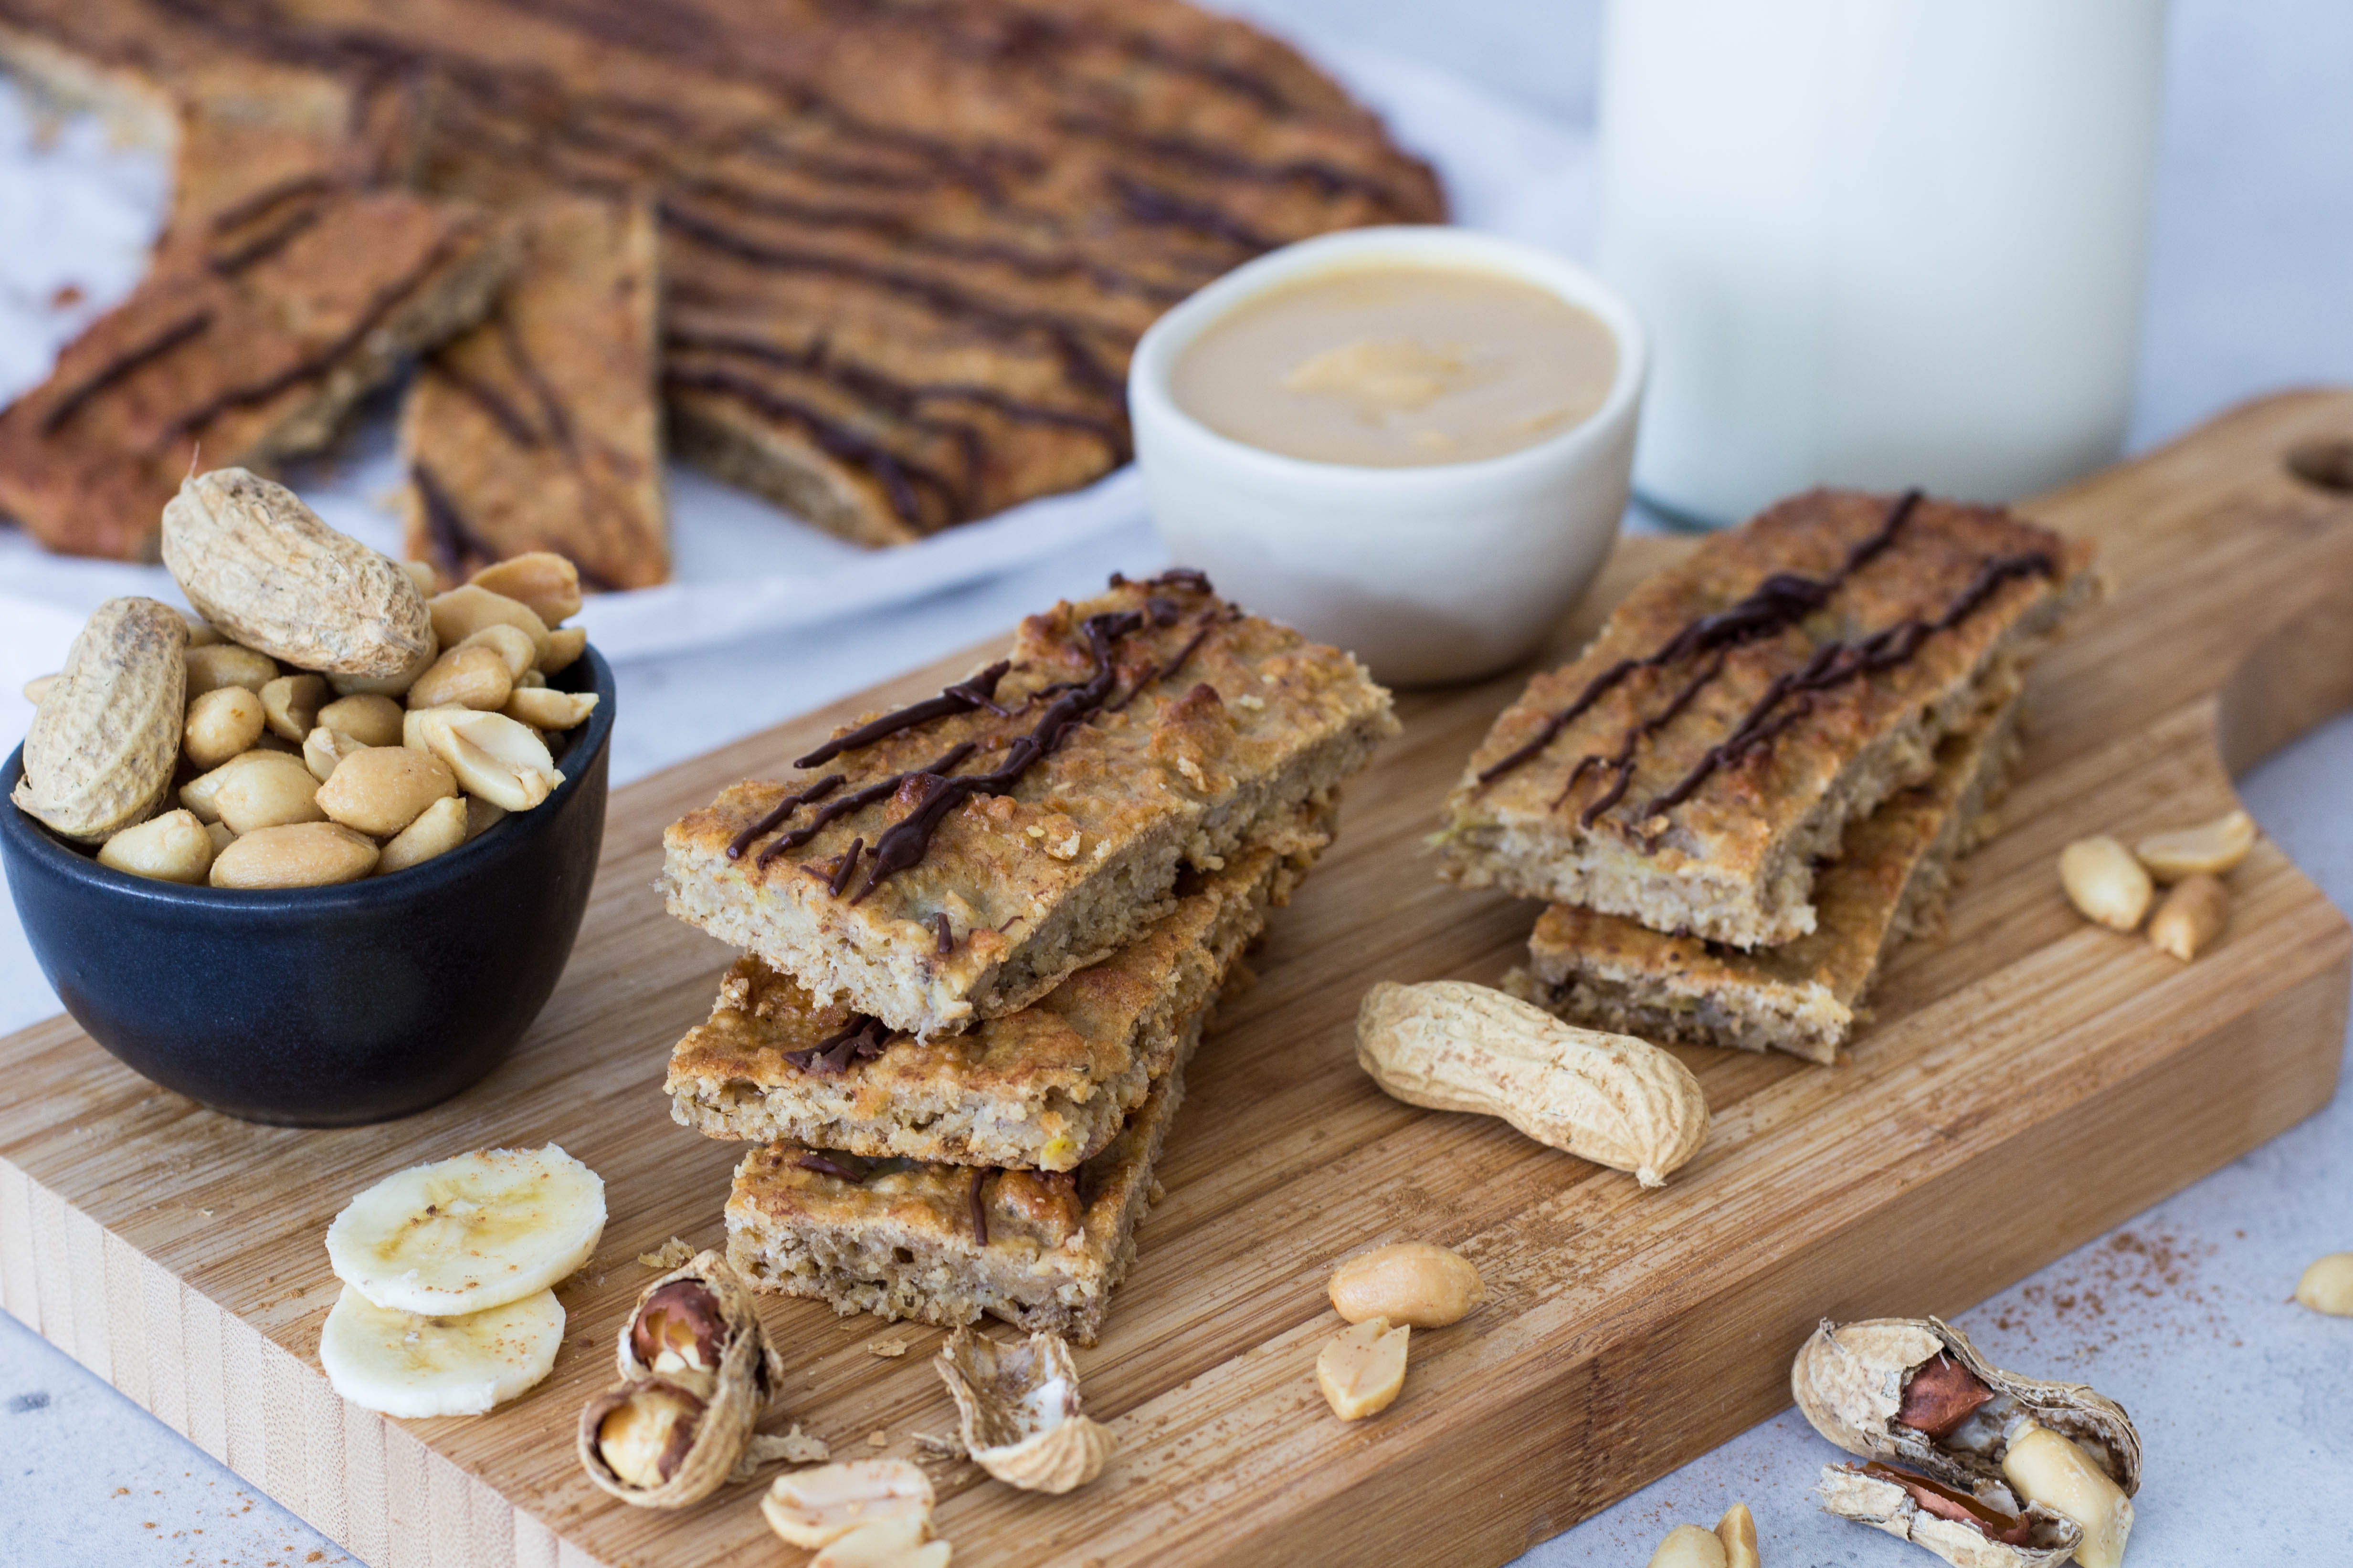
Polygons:
M562 1342L555 1291L466 1316L416 1316L344 1286L318 1335L318 1363L362 1410L480 1415L546 1378Z

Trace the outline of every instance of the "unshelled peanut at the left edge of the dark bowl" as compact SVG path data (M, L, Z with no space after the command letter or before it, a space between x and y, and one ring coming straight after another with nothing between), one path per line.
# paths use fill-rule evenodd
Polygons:
M155 813L186 719L186 635L155 599L108 599L89 616L24 736L12 797L24 811L80 844Z

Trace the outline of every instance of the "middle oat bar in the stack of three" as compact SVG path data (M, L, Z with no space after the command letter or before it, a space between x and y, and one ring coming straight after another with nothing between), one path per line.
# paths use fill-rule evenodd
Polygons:
M1042 999L967 1034L892 1037L816 1004L758 957L671 1051L671 1114L711 1138L861 1157L1071 1171L1099 1154L1176 1060L1228 966L1289 898L1327 835L1186 872L1176 910Z

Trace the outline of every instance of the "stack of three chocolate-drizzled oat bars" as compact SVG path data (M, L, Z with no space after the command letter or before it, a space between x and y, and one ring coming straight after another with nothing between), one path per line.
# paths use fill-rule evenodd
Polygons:
M680 919L744 950L673 1114L758 1147L767 1291L1092 1342L1184 1065L1395 731L1348 654L1169 571L671 825Z

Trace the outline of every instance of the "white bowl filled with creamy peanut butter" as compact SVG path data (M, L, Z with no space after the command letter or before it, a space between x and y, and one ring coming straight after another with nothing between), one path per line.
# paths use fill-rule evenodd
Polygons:
M1351 228L1226 273L1127 371L1169 557L1386 684L1560 625L1626 508L1647 350L1609 284L1468 228Z

